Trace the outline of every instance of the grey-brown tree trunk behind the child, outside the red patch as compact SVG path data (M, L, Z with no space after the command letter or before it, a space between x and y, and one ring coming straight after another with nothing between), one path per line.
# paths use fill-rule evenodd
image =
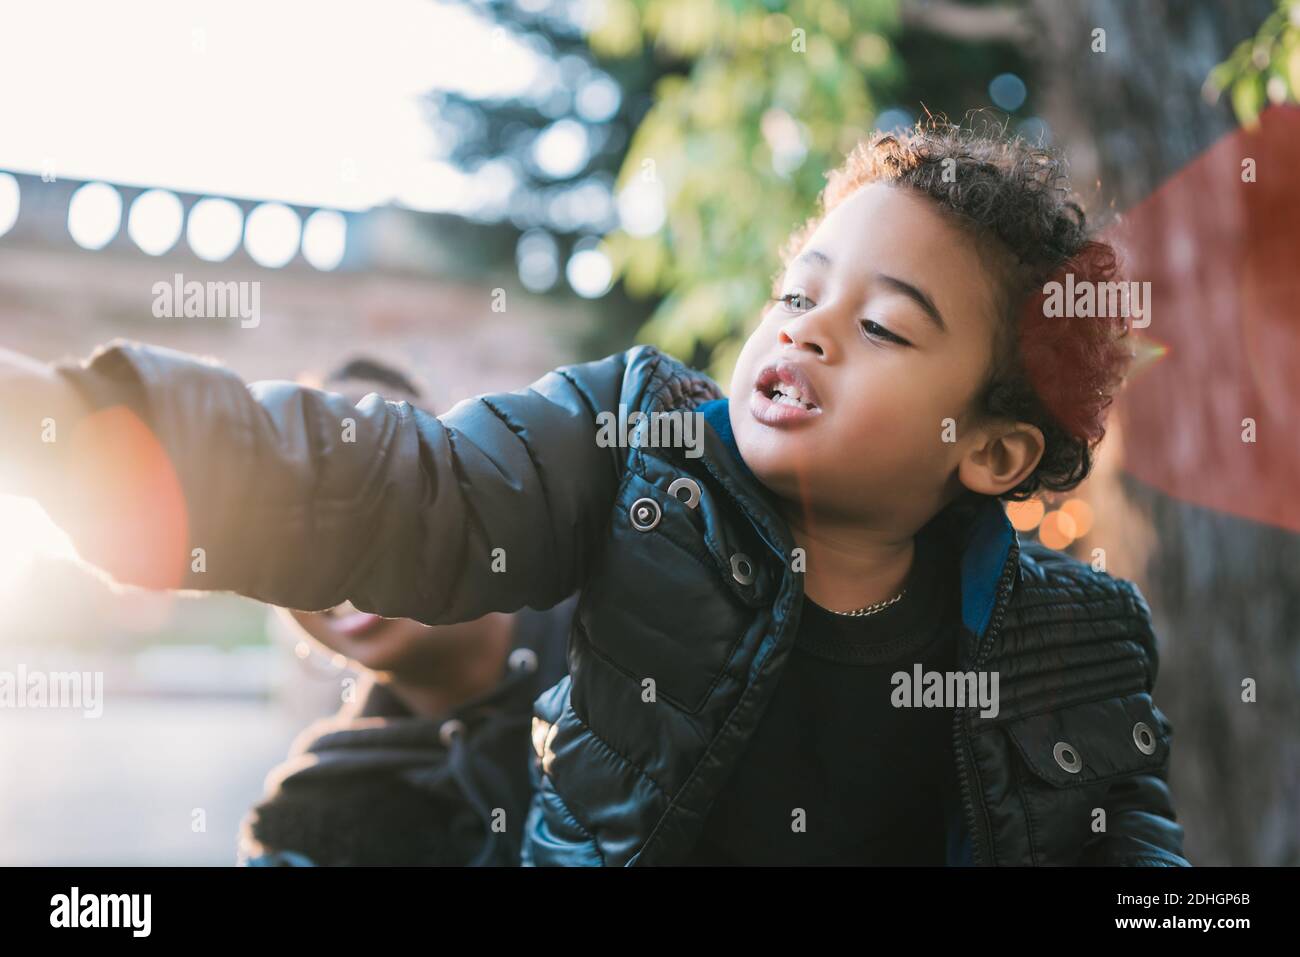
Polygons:
M1076 187L1092 196L1089 215L1110 205L1131 209L1236 129L1226 105L1205 100L1202 85L1274 7L1270 0L1031 5L1039 26L1032 51L1039 103L1054 142L1070 156ZM1105 30L1104 53L1092 49L1096 29ZM1204 237L1208 215L1235 217L1249 234L1251 211L1223 208L1240 207L1236 195L1166 204L1165 242L1144 248L1143 261L1182 276L1187 267L1174 261L1179 243ZM1210 243L1216 255L1240 252L1223 248L1225 242ZM1296 280L1290 282L1295 289ZM1162 321L1222 333L1210 309L1201 313ZM1161 359L1167 364L1161 372L1178 384L1160 410L1171 442L1197 441L1205 428L1195 406L1180 400L1212 376L1213 355L1213 347L1200 354L1171 348ZM1300 863L1300 536L1190 505L1121 473L1117 465L1138 451L1123 446L1126 423L1135 421L1124 402L1117 402L1104 460L1086 486L1097 523L1084 551L1105 547L1109 571L1136 580L1152 605L1161 650L1156 702L1174 726L1170 787L1187 854L1193 865ZM1294 423L1286 439L1292 445ZM1204 473L1187 478L1216 481ZM1244 679L1257 681L1257 703L1243 702Z

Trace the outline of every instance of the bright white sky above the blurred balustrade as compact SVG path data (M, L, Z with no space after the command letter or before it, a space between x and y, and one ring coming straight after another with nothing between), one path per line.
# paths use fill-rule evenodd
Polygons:
M547 61L472 4L42 0L0 13L0 169L363 211L458 209L420 94Z

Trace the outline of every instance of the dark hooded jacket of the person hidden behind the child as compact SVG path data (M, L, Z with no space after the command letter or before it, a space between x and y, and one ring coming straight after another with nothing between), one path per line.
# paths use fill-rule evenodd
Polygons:
M365 672L312 723L239 827L248 866L516 866L533 701L566 674L576 597L521 609L499 680L437 715Z

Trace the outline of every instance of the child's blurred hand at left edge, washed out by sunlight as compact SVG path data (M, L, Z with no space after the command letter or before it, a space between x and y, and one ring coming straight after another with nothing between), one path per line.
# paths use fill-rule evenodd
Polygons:
M0 492L56 493L64 484L68 439L88 412L77 389L52 367L0 348Z

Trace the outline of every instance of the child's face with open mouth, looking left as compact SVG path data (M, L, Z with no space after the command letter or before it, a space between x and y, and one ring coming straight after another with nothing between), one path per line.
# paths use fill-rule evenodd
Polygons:
M919 528L983 443L963 426L998 321L989 264L930 199L872 183L826 216L781 282L793 298L772 303L732 378L745 463L796 514ZM815 408L768 398L764 371L781 361Z

